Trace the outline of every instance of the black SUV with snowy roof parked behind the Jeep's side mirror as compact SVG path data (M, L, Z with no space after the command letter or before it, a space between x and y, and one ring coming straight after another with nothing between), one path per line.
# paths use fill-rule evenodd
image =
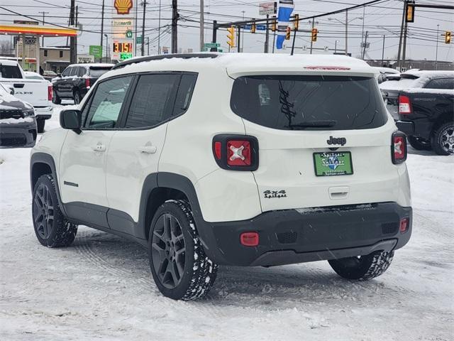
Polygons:
M79 104L90 87L101 75L111 70L113 64L73 64L52 80L53 101L61 104L62 99L73 99Z

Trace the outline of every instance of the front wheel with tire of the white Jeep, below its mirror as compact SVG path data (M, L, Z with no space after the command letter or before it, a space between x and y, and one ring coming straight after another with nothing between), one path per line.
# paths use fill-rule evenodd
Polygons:
M74 242L77 225L63 216L50 174L41 175L33 188L32 215L36 237L43 246L67 247Z

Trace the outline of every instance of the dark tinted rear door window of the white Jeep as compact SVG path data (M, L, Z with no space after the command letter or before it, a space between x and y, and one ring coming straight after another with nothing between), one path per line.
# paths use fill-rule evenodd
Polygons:
M140 76L129 107L126 128L155 126L168 119L180 77L169 74Z

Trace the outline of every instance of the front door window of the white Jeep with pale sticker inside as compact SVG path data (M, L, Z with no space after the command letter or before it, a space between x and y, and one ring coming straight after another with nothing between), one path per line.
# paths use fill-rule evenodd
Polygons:
M87 108L87 114L84 113L85 109L82 113L83 117L87 117L87 128L115 128L131 80L132 76L117 77L99 83Z

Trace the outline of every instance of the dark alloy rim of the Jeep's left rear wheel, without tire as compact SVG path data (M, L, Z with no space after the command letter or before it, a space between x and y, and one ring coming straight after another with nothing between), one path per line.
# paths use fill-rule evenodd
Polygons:
M176 288L184 275L186 244L176 217L162 215L155 224L151 244L153 267L165 288Z

